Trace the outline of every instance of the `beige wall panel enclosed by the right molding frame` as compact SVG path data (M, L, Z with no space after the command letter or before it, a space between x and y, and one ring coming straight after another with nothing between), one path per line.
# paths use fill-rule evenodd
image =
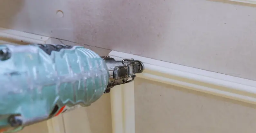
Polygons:
M251 133L255 105L185 88L135 80L138 133Z

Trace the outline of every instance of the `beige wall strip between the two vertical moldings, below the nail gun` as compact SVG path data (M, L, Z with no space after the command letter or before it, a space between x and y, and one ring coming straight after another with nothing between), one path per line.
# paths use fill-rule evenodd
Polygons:
M110 94L89 107L63 114L65 133L112 133Z

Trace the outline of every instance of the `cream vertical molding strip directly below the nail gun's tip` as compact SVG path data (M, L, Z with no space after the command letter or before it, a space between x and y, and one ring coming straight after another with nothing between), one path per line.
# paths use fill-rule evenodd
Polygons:
M111 88L112 133L135 133L134 82Z

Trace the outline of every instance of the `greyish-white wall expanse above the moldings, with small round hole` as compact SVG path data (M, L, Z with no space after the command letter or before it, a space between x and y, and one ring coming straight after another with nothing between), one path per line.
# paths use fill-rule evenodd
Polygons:
M256 80L256 5L226 0L0 2L1 27Z

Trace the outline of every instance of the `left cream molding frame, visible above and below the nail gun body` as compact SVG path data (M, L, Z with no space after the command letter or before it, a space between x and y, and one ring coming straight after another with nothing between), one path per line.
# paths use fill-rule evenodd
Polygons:
M51 43L50 37L25 33L13 29L0 28L0 44L47 44ZM65 133L63 115L47 120L48 133Z

